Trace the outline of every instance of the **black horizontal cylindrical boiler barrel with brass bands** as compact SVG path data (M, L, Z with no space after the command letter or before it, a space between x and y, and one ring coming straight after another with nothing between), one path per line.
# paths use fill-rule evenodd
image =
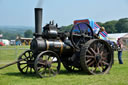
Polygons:
M33 39L31 49L34 51L51 50L57 54L73 52L70 43L64 43L61 40Z

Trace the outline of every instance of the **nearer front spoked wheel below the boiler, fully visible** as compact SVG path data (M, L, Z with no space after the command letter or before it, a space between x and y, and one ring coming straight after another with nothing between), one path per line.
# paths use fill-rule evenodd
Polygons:
M41 52L35 60L34 67L41 78L55 76L60 71L59 56L53 51Z

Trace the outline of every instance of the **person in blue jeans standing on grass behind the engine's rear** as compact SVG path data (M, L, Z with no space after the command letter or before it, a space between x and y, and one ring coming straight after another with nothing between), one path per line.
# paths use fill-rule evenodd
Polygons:
M122 61L122 51L123 51L123 41L119 38L117 40L117 44L118 44L118 60L119 60L119 64L123 64L123 61Z

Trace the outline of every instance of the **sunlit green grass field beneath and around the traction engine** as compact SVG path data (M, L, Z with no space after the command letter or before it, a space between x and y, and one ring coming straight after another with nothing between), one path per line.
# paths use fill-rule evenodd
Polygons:
M23 51L18 50L17 55ZM17 66L13 65L0 70L0 85L128 85L128 52L123 52L124 64L122 65L118 64L117 52L114 54L114 65L110 73L106 75L88 75L81 72L69 73L61 65L59 75L40 79L34 74L21 74ZM0 66L4 65L4 62L7 63L16 59L15 51L0 50L0 63L2 62Z

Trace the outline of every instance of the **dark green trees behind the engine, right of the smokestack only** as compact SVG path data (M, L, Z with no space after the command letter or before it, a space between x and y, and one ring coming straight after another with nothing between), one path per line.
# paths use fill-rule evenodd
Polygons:
M108 33L126 33L128 32L128 18L121 18L119 20L111 20L105 23L96 22L100 27L105 27L105 30ZM73 24L68 26L60 27L60 31L70 31L72 29Z

